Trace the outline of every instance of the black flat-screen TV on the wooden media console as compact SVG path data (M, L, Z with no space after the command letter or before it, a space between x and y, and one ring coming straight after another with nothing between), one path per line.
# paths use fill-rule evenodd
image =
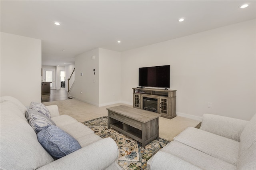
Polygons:
M139 68L139 86L170 88L170 65Z

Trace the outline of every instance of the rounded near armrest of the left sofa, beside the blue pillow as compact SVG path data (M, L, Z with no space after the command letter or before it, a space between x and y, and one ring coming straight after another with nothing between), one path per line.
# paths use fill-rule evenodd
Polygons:
M110 166L116 159L118 159L116 142L112 138L103 138L38 169L102 170Z

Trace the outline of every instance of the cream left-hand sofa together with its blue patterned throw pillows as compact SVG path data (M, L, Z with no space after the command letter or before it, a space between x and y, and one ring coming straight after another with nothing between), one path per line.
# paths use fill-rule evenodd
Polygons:
M3 96L0 104L1 170L121 169L112 138L102 139L76 119L60 115L56 105L46 107L49 117L37 117L38 103L27 109L17 99Z

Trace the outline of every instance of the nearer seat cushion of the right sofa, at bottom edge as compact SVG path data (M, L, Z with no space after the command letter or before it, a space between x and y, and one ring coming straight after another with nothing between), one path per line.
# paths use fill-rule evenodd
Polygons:
M177 141L172 141L164 146L160 151L167 152L178 158L189 162L201 169L215 169L215 170L231 170L236 169L236 166L224 160L214 158L200 150L194 149L190 146L182 144Z

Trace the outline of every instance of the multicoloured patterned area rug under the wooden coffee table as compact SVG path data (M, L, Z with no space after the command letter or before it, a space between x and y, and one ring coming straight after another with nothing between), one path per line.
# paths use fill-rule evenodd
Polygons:
M119 148L118 164L124 170L144 170L147 161L170 141L155 139L142 148L141 143L114 130L108 129L108 117L100 117L83 122L84 125L94 130L102 138L112 138Z

